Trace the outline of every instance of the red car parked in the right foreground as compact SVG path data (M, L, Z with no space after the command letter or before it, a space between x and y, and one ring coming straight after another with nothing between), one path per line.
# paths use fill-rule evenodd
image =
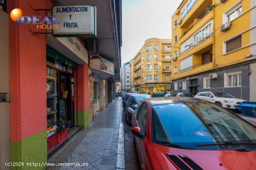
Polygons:
M132 124L142 170L256 170L256 127L208 101L145 99Z

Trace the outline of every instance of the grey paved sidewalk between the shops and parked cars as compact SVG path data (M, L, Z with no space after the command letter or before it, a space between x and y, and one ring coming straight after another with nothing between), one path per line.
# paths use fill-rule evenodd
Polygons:
M88 166L47 167L47 170L120 170L124 169L124 136L121 98L94 117L87 129L81 130L48 163L88 163Z

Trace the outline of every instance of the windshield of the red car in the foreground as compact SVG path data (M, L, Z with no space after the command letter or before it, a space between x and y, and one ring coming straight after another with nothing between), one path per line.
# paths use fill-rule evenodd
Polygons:
M198 150L220 150L227 146L197 145L243 140L256 142L254 126L208 102L155 105L152 122L153 138L157 144L173 143Z

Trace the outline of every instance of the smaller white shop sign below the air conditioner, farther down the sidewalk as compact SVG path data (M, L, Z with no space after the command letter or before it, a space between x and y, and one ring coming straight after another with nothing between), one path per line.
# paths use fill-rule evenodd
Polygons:
M114 75L114 63L102 57L90 59L90 68Z

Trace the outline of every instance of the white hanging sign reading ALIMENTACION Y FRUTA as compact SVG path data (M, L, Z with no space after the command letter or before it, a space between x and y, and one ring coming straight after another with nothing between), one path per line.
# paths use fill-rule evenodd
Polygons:
M53 6L53 16L60 22L54 37L96 37L96 6Z

